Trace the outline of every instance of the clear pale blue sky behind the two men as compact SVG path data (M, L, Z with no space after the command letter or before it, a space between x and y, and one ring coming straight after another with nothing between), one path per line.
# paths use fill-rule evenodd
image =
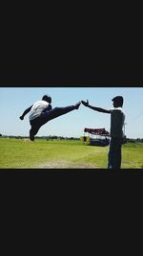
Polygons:
M89 100L91 105L112 107L112 98L124 97L126 114L125 133L128 138L143 138L143 88L142 87L1 87L0 133L3 135L29 136L29 114L19 119L23 111L44 94L51 95L52 107L74 105ZM80 137L84 128L106 128L110 131L110 114L100 113L80 105L78 110L51 120L40 128L38 136L56 135Z

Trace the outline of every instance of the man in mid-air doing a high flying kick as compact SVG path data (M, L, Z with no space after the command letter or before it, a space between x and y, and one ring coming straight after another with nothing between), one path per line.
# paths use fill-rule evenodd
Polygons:
M33 105L27 108L19 118L24 120L25 115L30 112L30 139L31 141L34 141L34 136L38 132L39 128L41 128L51 119L67 114L74 109L78 109L80 104L81 102L77 103L76 105L54 107L52 109L51 96L44 95L42 100L35 102Z

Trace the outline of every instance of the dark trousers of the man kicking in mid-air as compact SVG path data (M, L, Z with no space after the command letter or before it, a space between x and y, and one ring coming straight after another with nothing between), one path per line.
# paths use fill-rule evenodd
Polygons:
M70 111L74 110L75 106L74 105L69 105L65 107L54 107L51 110L48 110L46 112L43 112L41 116L33 119L30 121L31 124L31 130L30 130L30 135L36 135L38 132L39 128L41 128L43 125L45 125L47 122L51 121L52 119L67 114Z

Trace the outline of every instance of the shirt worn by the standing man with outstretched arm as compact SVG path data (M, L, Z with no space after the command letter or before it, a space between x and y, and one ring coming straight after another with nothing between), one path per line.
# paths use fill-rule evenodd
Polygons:
M124 136L125 113L122 107L113 107L111 110L111 137L122 138Z

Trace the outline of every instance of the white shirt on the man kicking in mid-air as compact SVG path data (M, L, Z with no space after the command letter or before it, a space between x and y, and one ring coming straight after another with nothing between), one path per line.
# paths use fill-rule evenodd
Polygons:
M30 116L29 119L30 121L35 119L36 117L40 116L42 111L47 108L49 106L49 103L47 103L46 101L38 101L35 104L32 105L31 107L31 112L30 112Z

